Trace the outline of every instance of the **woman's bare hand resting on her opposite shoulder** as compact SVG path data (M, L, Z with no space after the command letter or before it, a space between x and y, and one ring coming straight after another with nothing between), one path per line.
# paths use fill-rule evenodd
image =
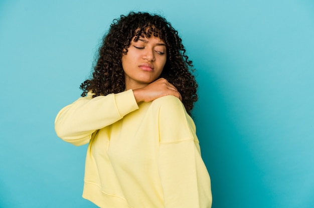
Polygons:
M181 94L177 88L169 83L165 78L160 78L149 85L133 90L136 102L150 102L157 98L174 95L182 101Z

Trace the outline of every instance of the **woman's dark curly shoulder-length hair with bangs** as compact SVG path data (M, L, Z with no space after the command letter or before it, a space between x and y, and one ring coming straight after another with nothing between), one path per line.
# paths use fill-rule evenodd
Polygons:
M130 12L127 16L121 15L120 19L113 20L98 50L92 78L80 85L83 90L81 96L86 96L88 91L94 93L93 97L123 92L122 55L127 53L133 38L136 42L139 37L149 38L152 35L163 40L167 48L167 61L160 78L167 79L178 89L191 115L193 104L198 99L192 61L186 55L178 31L165 18L149 13Z

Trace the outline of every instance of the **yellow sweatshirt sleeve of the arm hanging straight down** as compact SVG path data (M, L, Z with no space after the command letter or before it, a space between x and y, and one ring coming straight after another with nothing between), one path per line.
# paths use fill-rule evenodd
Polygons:
M159 149L165 208L211 207L211 182L194 122L179 99L166 99L170 100L160 107Z

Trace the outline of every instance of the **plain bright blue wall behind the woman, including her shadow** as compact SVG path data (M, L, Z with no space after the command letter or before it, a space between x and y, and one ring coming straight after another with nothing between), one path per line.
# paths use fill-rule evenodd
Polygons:
M86 145L54 132L99 41L130 10L165 16L197 68L213 208L314 207L314 3L0 1L0 207L95 207Z

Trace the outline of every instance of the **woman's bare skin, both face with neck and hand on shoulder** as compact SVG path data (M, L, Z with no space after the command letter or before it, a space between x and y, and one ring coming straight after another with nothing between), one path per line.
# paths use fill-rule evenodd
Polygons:
M167 61L167 48L159 37L131 41L128 52L122 56L125 89L132 89L136 102L150 102L174 95L182 100L176 87L159 76Z

